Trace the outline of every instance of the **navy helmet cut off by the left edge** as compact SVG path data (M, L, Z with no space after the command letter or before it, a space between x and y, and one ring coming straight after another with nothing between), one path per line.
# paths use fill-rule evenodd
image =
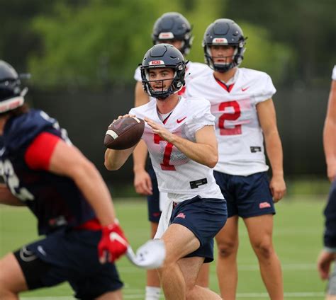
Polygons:
M6 113L23 105L28 88L21 90L21 82L15 69L0 60L0 113Z

